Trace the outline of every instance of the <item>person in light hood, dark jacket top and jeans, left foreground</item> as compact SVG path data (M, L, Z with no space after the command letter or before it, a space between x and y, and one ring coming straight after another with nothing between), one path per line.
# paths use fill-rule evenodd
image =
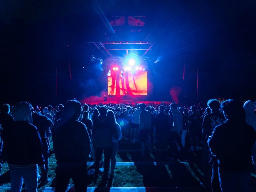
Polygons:
M41 178L46 177L42 141L39 131L32 124L32 113L27 102L16 104L12 109L14 118L9 129L3 130L5 158L11 177L10 191L21 191L24 180L26 191L37 191L38 165Z

